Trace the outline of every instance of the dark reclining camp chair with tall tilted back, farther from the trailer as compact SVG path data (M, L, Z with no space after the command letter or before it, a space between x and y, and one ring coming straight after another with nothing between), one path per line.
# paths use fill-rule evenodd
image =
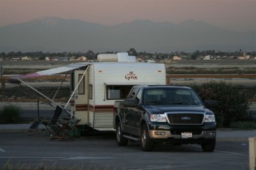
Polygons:
M56 109L54 111L54 114L52 115L52 118L43 118L43 117L36 118L33 124L31 124L31 126L29 127L29 131L35 131L35 134L36 134L36 132L38 131L38 127L40 125L44 125L45 129L44 129L43 136L45 134L45 131L48 131L51 134L51 132L48 129L48 125L57 124L61 113L62 113L62 108L60 106L56 106Z

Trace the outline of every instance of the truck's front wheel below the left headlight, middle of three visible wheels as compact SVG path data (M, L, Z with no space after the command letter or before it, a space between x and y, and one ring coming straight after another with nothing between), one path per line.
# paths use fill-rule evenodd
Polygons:
M141 135L140 135L141 149L143 151L152 151L154 150L154 142L148 136L148 127L147 125L143 125L141 127Z

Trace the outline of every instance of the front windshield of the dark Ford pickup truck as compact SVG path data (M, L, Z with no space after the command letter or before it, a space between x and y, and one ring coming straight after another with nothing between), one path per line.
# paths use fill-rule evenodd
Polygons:
M190 89L147 89L143 104L193 104L202 105L198 95Z

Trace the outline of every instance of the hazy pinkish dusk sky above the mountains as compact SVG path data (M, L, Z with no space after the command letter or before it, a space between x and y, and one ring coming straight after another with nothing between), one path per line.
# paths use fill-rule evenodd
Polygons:
M179 24L188 19L235 31L256 30L256 0L0 0L0 25L39 17L115 25L132 20Z

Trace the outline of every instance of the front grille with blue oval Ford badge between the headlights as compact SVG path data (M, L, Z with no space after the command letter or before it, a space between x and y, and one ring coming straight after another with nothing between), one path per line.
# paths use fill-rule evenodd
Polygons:
M204 121L201 113L169 113L167 117L172 125L202 125Z

